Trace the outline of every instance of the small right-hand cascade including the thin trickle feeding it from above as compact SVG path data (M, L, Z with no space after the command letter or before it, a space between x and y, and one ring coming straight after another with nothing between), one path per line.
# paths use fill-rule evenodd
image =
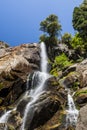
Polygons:
M76 109L76 106L73 100L73 95L71 95L70 89L66 86L64 82L61 81L60 84L67 91L68 109L66 110L67 114L66 114L66 124L65 124L66 129L67 129L69 126L74 126L74 127L76 126L79 111Z

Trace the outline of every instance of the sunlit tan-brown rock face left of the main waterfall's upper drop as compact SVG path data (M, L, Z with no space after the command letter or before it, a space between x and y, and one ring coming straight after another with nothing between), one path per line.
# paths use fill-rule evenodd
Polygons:
M0 49L1 51L1 49ZM39 44L3 48L0 55L0 104L10 105L26 90L29 73L39 70Z

